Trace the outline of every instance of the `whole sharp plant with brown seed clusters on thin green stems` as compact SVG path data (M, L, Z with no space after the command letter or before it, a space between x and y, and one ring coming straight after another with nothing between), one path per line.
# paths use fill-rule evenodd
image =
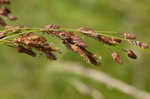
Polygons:
M12 26L7 24L3 17L8 18L11 21L17 18L12 15L11 11L2 6L3 4L10 4L10 0L0 0L0 25L4 27L4 30L0 31L0 43L16 48L19 53L25 53L32 57L36 57L35 50L40 51L46 55L50 60L57 60L55 53L61 53L62 51L55 46L50 45L47 39L43 35L55 36L62 41L62 44L73 52L81 56L85 61L94 65L100 64L99 56L88 51L88 44L84 42L81 35L85 35L91 39L96 39L99 43L106 44L110 47L119 48L119 51L123 51L129 58L137 59L137 55L131 49L121 48L120 44L125 41L129 45L139 46L140 48L148 49L148 44L137 41L136 35L133 33L120 33L114 32L114 35L107 32L95 31L89 27L80 27L79 29L65 29L58 25L47 25L42 28L29 28L26 26L18 25ZM39 34L40 33L40 34ZM112 51L112 59L119 64L123 61L119 55L119 51Z

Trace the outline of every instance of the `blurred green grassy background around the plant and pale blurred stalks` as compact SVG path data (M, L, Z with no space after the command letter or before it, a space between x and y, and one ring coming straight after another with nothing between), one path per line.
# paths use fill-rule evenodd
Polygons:
M137 37L150 43L150 0L12 0L8 6L18 20L11 24L29 27L43 27L58 24L67 28L90 26L100 31L133 32ZM52 45L60 47L62 55L58 61L49 61L44 56L32 58L18 54L15 49L0 47L0 99L93 99L82 94L70 82L82 81L97 89L104 99L133 99L117 89L97 83L69 72L58 72L63 63L80 64L96 69L150 92L150 53L135 49L137 60L121 54L123 65L112 61L111 53L103 44L84 38L89 50L103 56L99 67L84 62L78 55L68 51L57 38L51 38ZM56 70L53 70L54 67ZM51 71L52 70L52 71ZM113 83L113 82L112 82Z

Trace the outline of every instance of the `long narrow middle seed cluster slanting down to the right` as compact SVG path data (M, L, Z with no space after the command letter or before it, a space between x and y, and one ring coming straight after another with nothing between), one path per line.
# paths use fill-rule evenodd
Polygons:
M49 27L48 29L55 29L53 28L53 26L46 26ZM56 27L56 26L54 26ZM57 26L58 27L58 26ZM83 57L84 60L86 60L87 62L91 62L94 65L98 65L99 63L97 62L97 56L91 52L89 52L88 50L86 50L86 43L83 42L83 40L78 36L75 35L73 32L70 31L55 31L55 30L50 30L50 31L46 31L47 34L50 35L54 35L58 38L60 38L63 42L63 44L70 50L76 52L77 54L79 54L81 57Z

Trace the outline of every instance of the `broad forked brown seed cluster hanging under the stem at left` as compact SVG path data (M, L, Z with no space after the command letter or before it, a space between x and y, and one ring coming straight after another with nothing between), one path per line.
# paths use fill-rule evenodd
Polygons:
M56 60L56 56L52 52L57 51L57 49L48 44L47 40L42 36L34 33L26 33L15 38L14 42L17 45L18 51L21 53L36 56L32 51L32 48L35 48L36 50L43 52L48 59Z

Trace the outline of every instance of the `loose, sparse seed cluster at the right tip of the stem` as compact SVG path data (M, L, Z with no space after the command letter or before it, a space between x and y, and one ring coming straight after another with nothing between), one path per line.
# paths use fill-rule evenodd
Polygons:
M80 33L83 33L85 34L86 36L88 37L92 37L92 38L96 38L98 41L104 43L104 44L108 44L108 45L117 45L117 44L120 44L121 43L121 39L115 37L106 37L106 36L103 36L101 34L97 34L93 29L91 28L88 28L88 27L82 27L82 28L79 28L78 31ZM149 48L148 44L144 43L144 42L140 42L140 41L136 41L136 35L133 34L133 33L118 33L118 35L121 35L123 36L124 40L127 40L130 44L132 45L137 45L141 48L144 48L144 49L147 49ZM137 59L137 56L136 54L132 51L132 50L128 50L126 51L125 49L123 49L122 51L126 52L127 53L127 56L129 58L132 58L132 59ZM119 54L117 52L112 52L112 58L119 64L122 64L122 60L119 56Z

